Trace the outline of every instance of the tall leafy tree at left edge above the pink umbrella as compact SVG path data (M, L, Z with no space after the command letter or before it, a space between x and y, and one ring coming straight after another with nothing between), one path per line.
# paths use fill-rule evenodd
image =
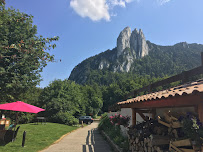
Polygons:
M58 37L37 36L33 16L0 4L0 96L1 102L20 100L20 95L40 81L40 72L53 56Z

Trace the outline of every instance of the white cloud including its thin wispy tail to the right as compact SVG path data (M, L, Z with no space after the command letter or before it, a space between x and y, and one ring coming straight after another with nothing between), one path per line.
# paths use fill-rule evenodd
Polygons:
M81 17L89 17L93 21L110 21L110 11L115 6L126 7L133 0L71 0L70 6Z

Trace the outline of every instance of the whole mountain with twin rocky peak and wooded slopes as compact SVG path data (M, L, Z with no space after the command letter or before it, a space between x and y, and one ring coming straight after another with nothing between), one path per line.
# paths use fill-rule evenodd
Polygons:
M182 42L160 46L146 41L142 30L131 33L127 27L120 33L116 48L82 61L72 70L69 79L79 84L100 79L100 85L108 85L103 79L111 78L103 78L104 73L111 73L107 74L111 77L121 72L152 77L174 75L199 66L200 52L203 52L201 44Z

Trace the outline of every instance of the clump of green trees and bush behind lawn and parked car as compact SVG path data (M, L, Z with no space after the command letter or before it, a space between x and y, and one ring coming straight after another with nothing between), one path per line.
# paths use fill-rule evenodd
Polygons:
M96 116L103 105L102 93L95 86L81 86L70 80L55 80L44 88L38 105L52 122L75 124L82 115ZM72 122L71 122L72 119Z

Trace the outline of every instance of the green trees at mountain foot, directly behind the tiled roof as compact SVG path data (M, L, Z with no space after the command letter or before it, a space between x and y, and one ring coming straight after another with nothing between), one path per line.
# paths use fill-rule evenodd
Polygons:
M125 95L129 92L163 79L150 77L149 75L138 76L132 73L108 72L108 74L112 74L109 79L115 78L115 80L109 86L101 86L104 101L102 111L108 111L110 105L125 100Z

